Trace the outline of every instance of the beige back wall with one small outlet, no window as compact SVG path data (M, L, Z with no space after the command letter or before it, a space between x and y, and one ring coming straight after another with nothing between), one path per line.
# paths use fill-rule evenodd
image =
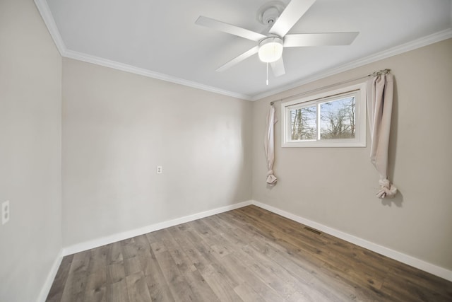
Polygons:
M251 106L64 59L64 245L251 199Z

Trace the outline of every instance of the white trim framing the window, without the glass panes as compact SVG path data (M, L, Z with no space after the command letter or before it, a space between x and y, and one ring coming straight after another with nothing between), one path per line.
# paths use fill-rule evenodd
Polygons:
M355 139L328 139L328 140L290 140L290 109L302 103L321 103L323 99L330 98L333 95L357 91L357 102L355 103L356 112L356 130ZM327 91L316 95L311 95L297 100L281 104L281 132L283 147L365 147L366 146L366 83L358 83L344 88L338 88L334 91Z

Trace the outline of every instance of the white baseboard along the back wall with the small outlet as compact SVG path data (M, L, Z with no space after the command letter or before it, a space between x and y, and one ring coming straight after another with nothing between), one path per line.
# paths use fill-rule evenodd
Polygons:
M225 207L220 207L217 209L212 209L212 210L208 210L208 211L203 211L201 213L197 213L197 214L192 214L192 215L188 215L188 216L184 216L184 217L180 217L177 219L172 219L169 221L163 221L160 223L155 223L152 224L150 226L144 226L143 228L136 228L134 230L130 230L130 231L125 231L125 232L121 232L121 233L117 233L117 234L113 234L110 236L105 236L102 238L96 238L94 240L90 240L90 241L86 241L83 243L77 243L75 245L70 245L66 248L63 249L63 256L66 255L71 255L74 254L76 252L82 252L83 250L90 250L92 248L97 248L100 247L102 245L106 245L109 243L114 243L120 240L124 240L127 238L132 238L135 236L140 236L143 235L145 233L150 233L153 231L157 231L157 230L161 230L162 228L169 228L171 226L177 226L178 224L181 223L186 223L189 221L194 221L196 219L201 219L207 216L212 216L215 214L220 214L222 212L225 211L230 211L233 209L239 209L242 207L246 207L248 205L251 204L251 201L247 201L247 202L239 202L238 204L231 204L229 206L225 206Z

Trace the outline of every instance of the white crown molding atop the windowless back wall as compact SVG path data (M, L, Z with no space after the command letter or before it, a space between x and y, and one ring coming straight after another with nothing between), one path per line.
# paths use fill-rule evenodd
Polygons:
M147 76L149 78L153 78L153 79L158 79L158 80L162 80L162 81L167 81L167 82L171 82L171 83L177 83L179 85L183 85L183 86L189 86L191 88L197 88L197 89L201 89L203 91L210 91L213 93L218 93L221 95L227 95L227 96L231 96L232 98L239 98L242 100L251 100L251 96L250 95L245 95L242 93L235 93L233 91L225 91L223 89L220 88L216 88L213 86L208 86L208 85L204 85L201 83L197 83L194 81L188 81L185 79L180 79L177 78L175 76L169 76L167 74L160 74L158 72L155 71L150 71L149 69L143 69L143 68L139 68L136 66L131 66L128 64L123 64L123 63L119 63L116 61L112 61L109 59L103 59L100 57L95 57L92 56L90 54L83 54L82 52L75 52L73 50L66 50L63 54L63 57L67 57L70 59L76 59L79 61L83 61L83 62L88 62L88 63L92 63L92 64L97 64L100 66L105 66L105 67L109 67L112 69L118 69L121 71L127 71L130 72L132 74L139 74L141 76Z

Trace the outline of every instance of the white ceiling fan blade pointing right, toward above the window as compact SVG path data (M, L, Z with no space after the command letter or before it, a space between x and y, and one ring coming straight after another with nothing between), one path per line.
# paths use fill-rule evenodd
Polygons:
M350 45L359 33L299 33L286 35L284 47Z

